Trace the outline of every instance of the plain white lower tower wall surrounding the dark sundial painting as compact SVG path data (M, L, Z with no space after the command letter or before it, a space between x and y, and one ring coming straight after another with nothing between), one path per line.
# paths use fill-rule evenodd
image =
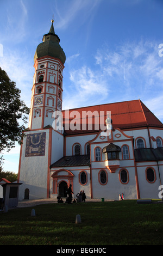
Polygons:
M20 193L19 200L24 199L24 190L29 189L29 199L47 197L47 172L48 172L48 142L49 130L38 130L33 133L46 132L45 156L25 156L26 139L23 140L21 170L20 170ZM26 132L31 134L31 132Z

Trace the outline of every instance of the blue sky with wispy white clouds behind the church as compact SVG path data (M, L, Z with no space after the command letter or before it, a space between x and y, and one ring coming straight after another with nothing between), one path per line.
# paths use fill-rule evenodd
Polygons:
M34 53L53 15L66 54L63 108L140 99L163 121L162 0L0 0L0 66L29 107ZM18 172L19 154L17 145L4 153L4 170Z

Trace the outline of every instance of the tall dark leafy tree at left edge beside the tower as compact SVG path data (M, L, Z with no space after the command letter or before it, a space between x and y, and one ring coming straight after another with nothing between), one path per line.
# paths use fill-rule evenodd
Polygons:
M24 136L30 108L20 99L20 94L15 82L0 68L0 153L15 147L15 142L21 144Z

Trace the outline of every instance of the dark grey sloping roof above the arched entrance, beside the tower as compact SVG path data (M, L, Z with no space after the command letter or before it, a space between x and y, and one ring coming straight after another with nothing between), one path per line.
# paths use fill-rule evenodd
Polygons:
M64 156L57 162L53 163L50 168L63 167L63 166L89 166L89 155L76 155L76 156Z

